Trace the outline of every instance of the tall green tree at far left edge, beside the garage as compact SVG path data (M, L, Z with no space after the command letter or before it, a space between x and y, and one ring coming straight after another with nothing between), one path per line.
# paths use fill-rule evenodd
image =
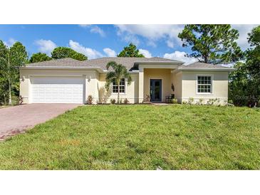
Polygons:
M0 41L0 73L1 83L8 85L9 105L12 104L12 92L19 93L19 67L28 62L26 48L16 42L10 48L7 48L3 41Z

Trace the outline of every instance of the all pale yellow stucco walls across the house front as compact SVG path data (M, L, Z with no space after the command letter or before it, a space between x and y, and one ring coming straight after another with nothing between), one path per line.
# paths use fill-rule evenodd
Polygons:
M165 96L172 93L179 102L187 101L189 97L194 97L194 102L200 98L207 102L209 99L219 98L222 102L228 97L228 73L227 72L198 72L198 71L173 71L170 68L144 68L143 69L143 97L150 94L150 79L162 79L162 101ZM95 70L20 70L20 95L24 97L24 103L29 103L29 93L31 88L30 78L33 76L80 76L85 78L85 98L88 95L94 97L94 102L110 103L110 99L117 100L117 94L106 92L105 73L98 73ZM212 94L197 94L197 75L212 75ZM126 93L120 94L120 99L126 98L130 103L137 103L140 96L139 73L131 73L132 83L126 85ZM141 82L142 83L142 82ZM175 91L172 91L172 84Z

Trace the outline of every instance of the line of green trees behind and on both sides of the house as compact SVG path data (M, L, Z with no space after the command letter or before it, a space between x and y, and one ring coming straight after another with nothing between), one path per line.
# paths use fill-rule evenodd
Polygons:
M246 51L241 51L236 43L239 31L228 24L185 25L178 37L182 40L182 46L192 51L187 53L187 57L197 58L203 63L234 65L236 70L229 73L229 100L234 105L254 106L260 102L260 26L253 28L248 34L250 46ZM118 53L118 57L144 56L130 43ZM88 60L82 53L66 47L55 48L51 56L33 53L28 58L22 43L16 42L8 48L0 41L0 105L18 101L19 67L26 63L60 58Z

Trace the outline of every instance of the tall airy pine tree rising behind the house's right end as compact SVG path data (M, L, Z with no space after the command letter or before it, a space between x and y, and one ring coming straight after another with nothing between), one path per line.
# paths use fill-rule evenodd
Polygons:
M183 47L191 47L189 57L204 63L234 63L243 57L236 43L239 31L229 24L188 24L178 35Z

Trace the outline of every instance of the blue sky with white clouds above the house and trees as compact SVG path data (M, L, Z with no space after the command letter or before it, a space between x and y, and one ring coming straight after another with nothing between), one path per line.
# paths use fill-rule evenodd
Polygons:
M245 49L247 33L256 25L233 25L239 30L239 46ZM57 46L71 47L89 59L115 56L130 42L146 57L159 56L192 63L186 58L177 34L183 25L0 25L0 39L11 46L20 41L32 53L50 55Z

